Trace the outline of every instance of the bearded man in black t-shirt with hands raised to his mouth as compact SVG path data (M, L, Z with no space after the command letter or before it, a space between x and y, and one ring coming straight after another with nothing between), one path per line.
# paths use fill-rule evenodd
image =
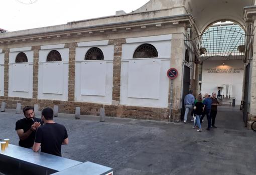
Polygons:
M20 138L19 145L30 148L34 144L36 130L42 124L41 119L35 118L34 107L25 106L23 108L25 118L16 122L15 130Z

